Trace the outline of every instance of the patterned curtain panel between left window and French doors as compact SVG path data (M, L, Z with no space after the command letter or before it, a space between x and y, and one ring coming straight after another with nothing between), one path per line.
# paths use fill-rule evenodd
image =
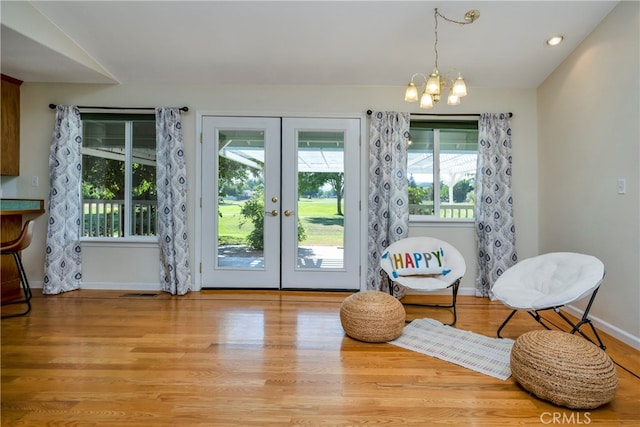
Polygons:
M178 108L156 109L156 183L160 287L173 295L191 290L187 238L187 169Z

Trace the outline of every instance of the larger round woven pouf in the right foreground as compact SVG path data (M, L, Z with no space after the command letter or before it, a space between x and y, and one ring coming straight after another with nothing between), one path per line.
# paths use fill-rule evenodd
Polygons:
M511 350L511 373L539 398L573 409L609 403L618 388L611 358L583 337L561 331L518 337Z

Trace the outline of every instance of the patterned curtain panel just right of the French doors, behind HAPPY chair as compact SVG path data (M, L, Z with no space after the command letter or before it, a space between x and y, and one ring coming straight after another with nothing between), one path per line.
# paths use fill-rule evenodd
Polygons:
M388 292L382 280L380 255L391 243L407 237L409 196L407 143L409 113L373 112L369 129L369 235L367 289ZM393 290L401 297L402 290Z

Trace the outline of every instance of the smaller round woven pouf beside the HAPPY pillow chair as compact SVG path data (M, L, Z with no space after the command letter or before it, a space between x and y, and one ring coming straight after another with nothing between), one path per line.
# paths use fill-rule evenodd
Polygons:
M340 322L351 338L387 342L402 334L406 313L400 301L380 291L348 296L340 307Z

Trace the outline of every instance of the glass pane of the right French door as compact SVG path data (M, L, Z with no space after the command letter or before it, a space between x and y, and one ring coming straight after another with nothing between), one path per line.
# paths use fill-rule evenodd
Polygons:
M299 131L297 137L298 269L342 269L344 132Z

